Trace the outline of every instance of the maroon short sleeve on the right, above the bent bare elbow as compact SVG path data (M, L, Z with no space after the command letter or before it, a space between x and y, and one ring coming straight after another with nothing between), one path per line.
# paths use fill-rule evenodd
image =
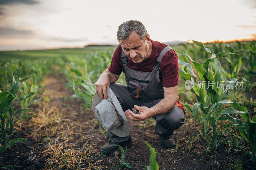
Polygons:
M179 84L179 62L174 50L169 50L162 58L159 77L163 87L174 87Z

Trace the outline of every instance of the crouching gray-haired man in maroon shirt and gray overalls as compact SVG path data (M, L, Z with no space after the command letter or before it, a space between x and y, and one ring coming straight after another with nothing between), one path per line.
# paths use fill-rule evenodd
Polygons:
M156 133L164 148L175 145L173 131L185 123L185 108L177 96L178 56L166 44L150 39L145 26L138 20L123 22L118 26L120 43L109 67L95 83L101 99L107 99L107 86L114 92L125 115L133 121L153 117ZM115 83L124 72L126 86ZM133 113L132 107L139 111ZM103 154L112 154L118 147L131 146L130 135L119 137L108 132L108 144L101 147Z

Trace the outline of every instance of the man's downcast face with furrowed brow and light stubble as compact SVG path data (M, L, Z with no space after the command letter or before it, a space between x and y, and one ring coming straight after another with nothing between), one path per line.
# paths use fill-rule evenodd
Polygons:
M146 40L141 40L140 35L135 30L132 31L126 41L120 40L120 45L127 57L134 63L141 63L151 54L149 35L147 35Z

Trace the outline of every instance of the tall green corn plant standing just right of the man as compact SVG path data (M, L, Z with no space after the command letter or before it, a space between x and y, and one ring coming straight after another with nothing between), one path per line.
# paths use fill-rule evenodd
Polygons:
M201 123L203 124L203 134L204 134L203 137L210 138L210 141L208 140L207 141L209 143L212 143L212 147L216 151L218 146L217 145L218 134L216 131L217 123L219 120L223 119L222 117L219 117L219 115L223 114L223 112L225 113L225 111L221 110L221 107L223 106L223 104L230 103L228 100L224 100L227 97L228 88L224 90L224 88L221 88L220 86L221 82L224 83L223 76L225 75L221 73L222 69L221 69L220 62L218 61L218 58L222 58L224 55L234 54L234 53L219 52L215 54L212 48L206 48L204 44L198 41L193 41L193 42L200 48L204 48L205 51L210 53L212 56L207 58L202 65L200 63L195 62L188 54L175 50L176 52L182 55L186 55L190 59L190 61L193 64L193 67L198 71L198 75L200 79L194 74L192 66L186 62L181 62L181 64L187 67L186 68L187 71L185 71L180 67L180 77L186 81L189 81L193 85L193 87L191 87L191 92L193 92L196 95L196 99L198 101L196 104L194 104L194 108L193 108L194 120L196 122L197 118L200 119ZM194 78L192 76L195 78L196 81L194 81ZM241 80L244 78L239 77L238 79ZM203 80L203 82L201 80ZM205 87L205 85L207 86L207 88ZM234 84L230 86L230 88L232 87L234 87ZM210 104L212 105L211 107L210 107ZM236 102L233 102L233 104L231 105L233 107L236 106L235 108L238 108L239 106ZM201 116L198 116L199 108L202 111ZM205 121L207 120L212 126L212 137L209 137L209 135L206 134L207 122ZM227 128L227 127L224 127L224 128Z

